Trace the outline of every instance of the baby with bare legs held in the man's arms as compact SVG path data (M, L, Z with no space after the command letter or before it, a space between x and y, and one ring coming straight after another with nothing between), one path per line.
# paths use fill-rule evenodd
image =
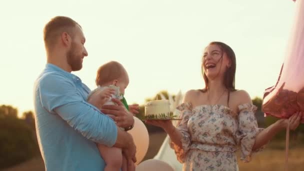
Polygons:
M105 104L114 104L111 98L117 98L121 100L127 110L130 108L133 113L136 113L138 104L128 106L123 97L124 89L128 83L129 78L124 67L116 61L107 62L98 68L96 76L96 85L98 87L88 94L87 99L89 99L92 93L100 91L102 95L100 102L96 105L98 109L101 109L101 106ZM121 129L124 130L124 128ZM106 163L104 167L105 171L120 170L120 168L122 171L135 170L134 164L127 164L126 158L122 155L121 148L107 147L103 144L97 144L97 146Z

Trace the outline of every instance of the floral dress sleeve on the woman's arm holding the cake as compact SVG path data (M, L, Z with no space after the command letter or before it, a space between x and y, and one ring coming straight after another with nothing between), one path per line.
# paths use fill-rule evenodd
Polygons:
M192 105L191 103L186 102L186 103L181 103L176 108L181 111L181 114L179 115L179 118L181 120L178 120L178 122L176 123L176 128L182 134L181 146L178 146L171 140L169 140L169 145L171 148L174 149L178 161L184 162L185 155L189 150L191 144L191 135L189 134L187 123L189 117L192 115Z

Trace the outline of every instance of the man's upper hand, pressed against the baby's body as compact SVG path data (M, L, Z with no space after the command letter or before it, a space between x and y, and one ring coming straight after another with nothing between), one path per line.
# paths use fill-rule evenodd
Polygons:
M113 119L119 127L127 128L132 126L134 124L133 114L124 108L120 100L112 98L112 101L117 105L102 105L101 112L114 115Z

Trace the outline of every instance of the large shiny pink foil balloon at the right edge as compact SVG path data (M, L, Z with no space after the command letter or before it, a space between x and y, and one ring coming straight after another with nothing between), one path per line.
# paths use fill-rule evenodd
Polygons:
M297 0L295 5L295 24L284 63L276 84L265 89L263 97L262 110L278 118L304 111L304 0Z

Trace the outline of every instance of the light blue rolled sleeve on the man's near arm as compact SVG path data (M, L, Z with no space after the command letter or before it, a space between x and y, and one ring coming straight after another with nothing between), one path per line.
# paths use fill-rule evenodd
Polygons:
M41 78L40 101L44 109L58 114L84 137L112 146L117 138L114 121L87 103L72 80L59 73L50 73Z

